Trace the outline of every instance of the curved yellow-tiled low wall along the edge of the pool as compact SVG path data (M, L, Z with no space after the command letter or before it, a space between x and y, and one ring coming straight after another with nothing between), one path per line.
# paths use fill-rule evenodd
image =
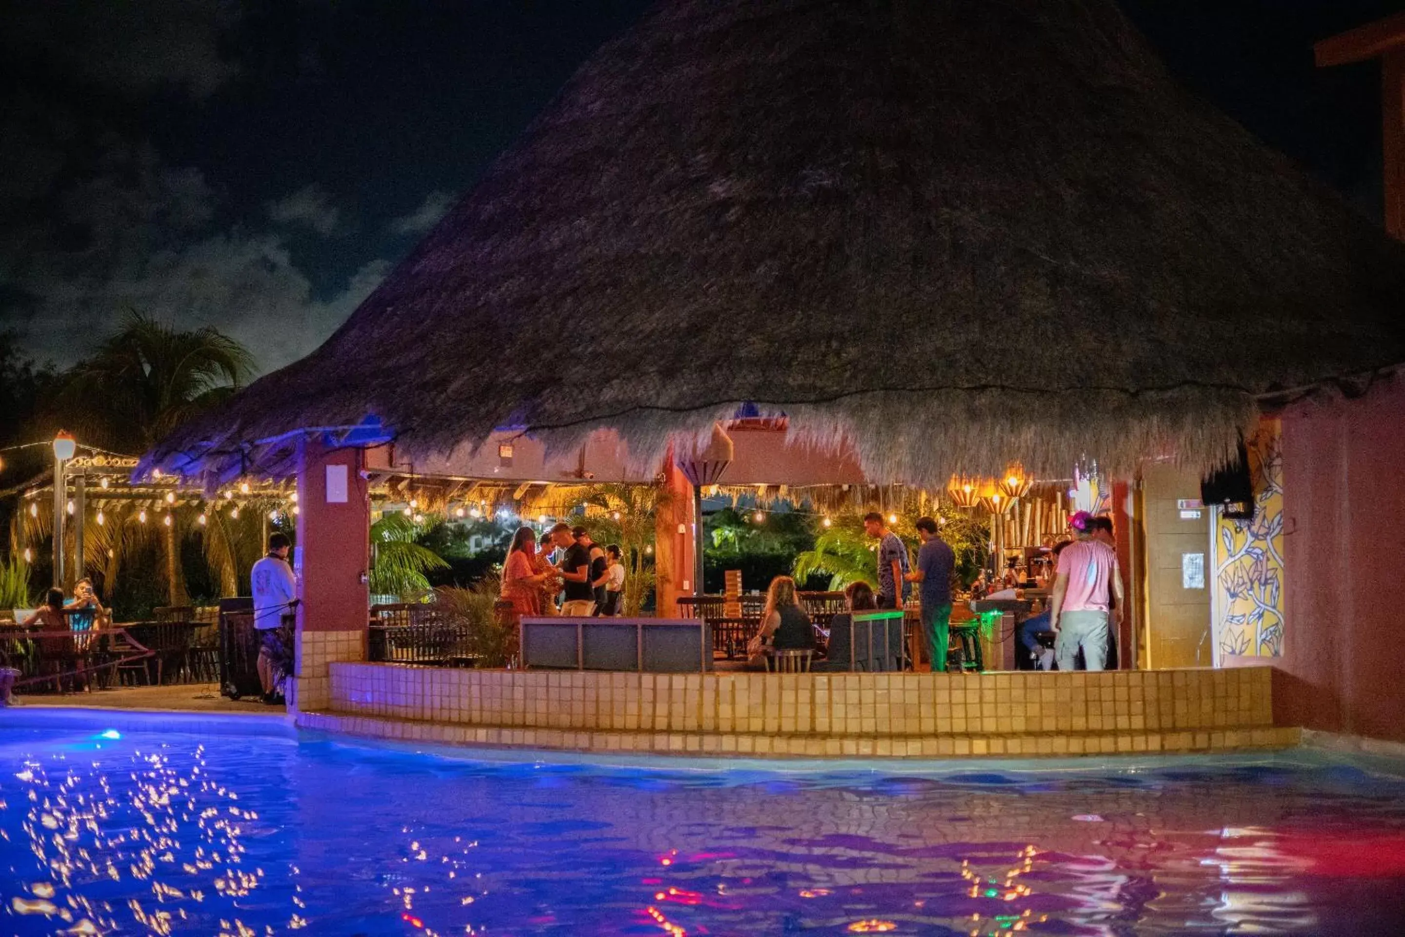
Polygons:
M332 662L298 725L587 752L1069 756L1297 745L1272 673L639 674Z

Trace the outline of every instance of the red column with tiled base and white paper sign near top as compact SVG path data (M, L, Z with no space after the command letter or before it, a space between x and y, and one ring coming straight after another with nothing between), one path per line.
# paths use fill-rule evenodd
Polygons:
M296 707L330 701L329 664L365 659L371 497L362 451L302 444L298 461Z

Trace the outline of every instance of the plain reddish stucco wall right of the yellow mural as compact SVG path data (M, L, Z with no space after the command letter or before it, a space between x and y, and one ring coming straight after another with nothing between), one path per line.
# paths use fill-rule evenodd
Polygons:
M1405 385L1283 413L1279 725L1405 742Z

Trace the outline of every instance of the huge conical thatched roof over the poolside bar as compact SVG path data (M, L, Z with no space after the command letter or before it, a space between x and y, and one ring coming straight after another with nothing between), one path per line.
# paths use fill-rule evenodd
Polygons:
M1210 465L1260 395L1405 361L1402 299L1405 251L1113 0L674 0L322 348L153 457L368 413L402 450L656 454L754 402L895 480Z

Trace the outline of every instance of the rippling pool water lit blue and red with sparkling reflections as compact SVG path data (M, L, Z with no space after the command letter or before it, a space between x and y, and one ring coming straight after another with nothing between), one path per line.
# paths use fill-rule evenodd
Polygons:
M1405 920L1405 780L1314 753L771 771L107 735L0 730L0 933L1399 933Z

